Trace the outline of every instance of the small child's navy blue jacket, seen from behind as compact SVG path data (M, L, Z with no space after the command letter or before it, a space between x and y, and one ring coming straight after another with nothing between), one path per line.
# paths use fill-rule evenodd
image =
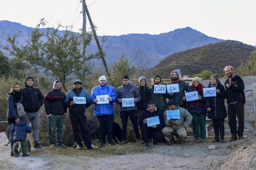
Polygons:
M11 129L14 132L13 140L26 140L27 133L32 132L32 128L27 125L27 122L24 120L20 120L19 123Z

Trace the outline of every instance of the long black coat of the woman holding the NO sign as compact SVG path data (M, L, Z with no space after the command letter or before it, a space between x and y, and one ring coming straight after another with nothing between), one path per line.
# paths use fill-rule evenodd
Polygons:
M211 87L210 83L208 87ZM220 82L217 83L216 89L220 90L220 93L216 93L217 96L206 98L205 107L211 109L211 111L208 112L208 118L210 119L227 117L227 110L224 103L224 99L227 98L227 92Z

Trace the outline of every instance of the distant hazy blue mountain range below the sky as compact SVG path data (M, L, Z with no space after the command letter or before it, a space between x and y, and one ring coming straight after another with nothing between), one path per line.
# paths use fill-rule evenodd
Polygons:
M6 39L8 35L19 33L18 45L24 45L29 34L34 28L23 26L17 22L7 20L0 21L0 50L10 58L7 51L3 48L8 45ZM45 32L46 29L40 29ZM60 31L61 32L61 31ZM101 42L102 36L98 36ZM174 53L182 52L191 48L203 46L210 43L222 41L218 38L209 37L190 27L176 29L159 35L150 34L127 34L120 36L105 36L106 42L103 45L103 51L106 53L106 62L111 65L118 61L121 54L124 54L129 61L133 62L135 51L150 60L149 67L157 65L161 60ZM87 48L87 53L95 53L98 48L94 39ZM102 69L101 60L94 59L93 62L97 69Z

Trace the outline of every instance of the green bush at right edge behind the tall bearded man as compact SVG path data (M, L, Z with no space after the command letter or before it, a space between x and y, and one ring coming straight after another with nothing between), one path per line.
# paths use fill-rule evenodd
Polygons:
M251 53L251 57L246 64L244 62L238 67L240 76L255 76L256 75L256 50Z

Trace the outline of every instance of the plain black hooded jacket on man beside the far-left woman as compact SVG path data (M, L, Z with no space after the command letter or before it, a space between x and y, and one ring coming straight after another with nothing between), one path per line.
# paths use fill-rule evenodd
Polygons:
M42 104L44 104L44 96L42 95L41 91L38 87L27 85L27 80L33 79L32 77L28 76L25 79L25 86L20 87L22 90L23 95L23 106L26 112L37 112Z

